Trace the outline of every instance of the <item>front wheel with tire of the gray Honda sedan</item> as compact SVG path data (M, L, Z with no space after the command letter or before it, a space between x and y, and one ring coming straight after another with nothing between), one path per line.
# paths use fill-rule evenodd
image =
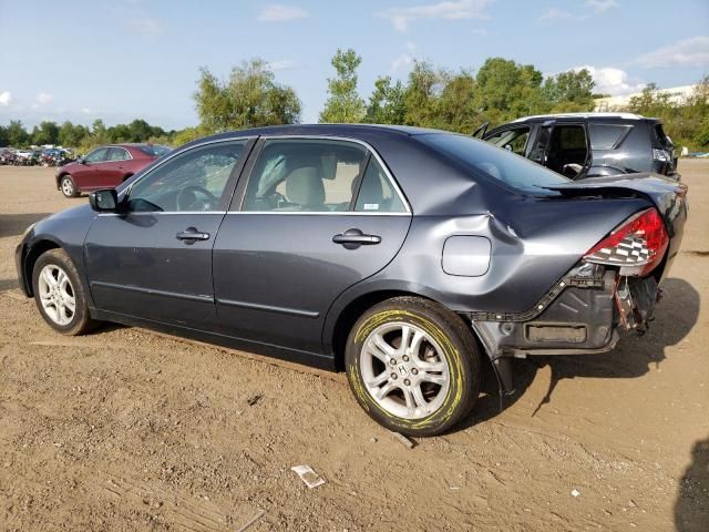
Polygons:
M96 326L79 273L63 249L40 255L32 269L32 288L42 318L58 332L76 336Z

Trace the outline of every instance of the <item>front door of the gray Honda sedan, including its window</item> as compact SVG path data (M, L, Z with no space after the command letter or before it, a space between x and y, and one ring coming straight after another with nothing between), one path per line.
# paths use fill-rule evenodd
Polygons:
M210 330L212 247L247 141L193 147L135 182L125 214L100 214L84 246L97 308Z

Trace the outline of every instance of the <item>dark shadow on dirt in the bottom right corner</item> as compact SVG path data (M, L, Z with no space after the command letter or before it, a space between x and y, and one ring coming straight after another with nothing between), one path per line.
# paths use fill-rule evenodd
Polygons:
M691 464L679 482L675 525L679 532L709 530L709 438L691 449Z

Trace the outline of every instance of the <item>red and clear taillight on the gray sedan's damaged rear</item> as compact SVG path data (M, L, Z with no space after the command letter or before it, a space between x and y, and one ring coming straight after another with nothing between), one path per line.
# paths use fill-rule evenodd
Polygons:
M655 208L648 208L633 215L592 247L584 255L584 260L625 266L633 268L633 275L644 276L659 264L668 244L662 218Z

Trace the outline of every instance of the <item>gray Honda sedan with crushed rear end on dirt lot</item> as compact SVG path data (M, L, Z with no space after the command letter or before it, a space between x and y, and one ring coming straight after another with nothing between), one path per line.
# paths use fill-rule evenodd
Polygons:
M513 357L644 331L686 193L574 183L441 131L255 129L37 223L17 267L58 332L117 321L345 369L374 420L431 436L470 412L483 364L508 393Z

